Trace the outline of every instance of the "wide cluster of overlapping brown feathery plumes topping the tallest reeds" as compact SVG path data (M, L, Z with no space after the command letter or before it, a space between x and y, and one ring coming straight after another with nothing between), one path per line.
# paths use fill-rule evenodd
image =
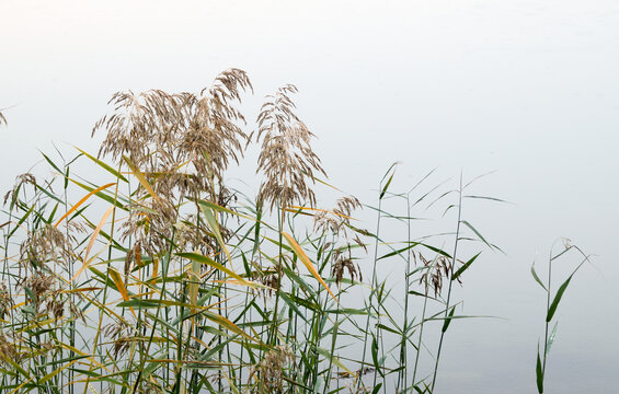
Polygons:
M92 134L106 130L99 155L119 161L127 155L160 196L209 190L221 181L230 161L238 162L249 137L239 124L236 107L241 92L252 90L248 74L239 69L221 72L199 94L169 94L152 90L140 94L118 92L108 104L114 112L101 118ZM192 169L181 172L191 163ZM215 197L215 196L213 196Z

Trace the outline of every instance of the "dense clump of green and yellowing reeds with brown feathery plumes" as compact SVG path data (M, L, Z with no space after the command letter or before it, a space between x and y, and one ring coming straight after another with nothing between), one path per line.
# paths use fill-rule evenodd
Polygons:
M318 207L329 184L296 88L265 97L255 134L239 109L251 92L230 69L199 93L116 93L96 155L44 154L54 176L16 178L1 221L3 393L434 392L466 317L454 285L498 250L465 219L463 201L485 197L462 176L427 188L432 172L394 192L394 164L376 201ZM225 181L252 144L255 197ZM434 235L413 217L431 207L451 223ZM385 223L404 231L386 240Z

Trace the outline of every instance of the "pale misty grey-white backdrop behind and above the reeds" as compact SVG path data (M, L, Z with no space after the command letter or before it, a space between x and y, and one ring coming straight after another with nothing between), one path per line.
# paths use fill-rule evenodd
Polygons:
M400 161L401 190L435 167L436 182L493 172L475 193L513 202L465 208L505 255L484 255L459 296L505 320L454 328L439 392L535 390L543 293L529 268L561 236L596 256L560 309L549 386L618 391L618 18L610 0L1 0L0 187L38 150L96 152L91 129L116 91L196 92L241 68L253 119L294 83L347 193L375 202Z

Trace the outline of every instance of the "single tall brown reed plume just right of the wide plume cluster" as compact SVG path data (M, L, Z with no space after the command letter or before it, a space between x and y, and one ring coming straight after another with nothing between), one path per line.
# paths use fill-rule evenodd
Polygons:
M314 172L326 175L320 165L320 159L311 150L310 138L313 134L295 115L295 104L288 96L297 88L279 88L274 95L266 96L257 117L257 137L262 138L262 151L256 172L262 172L266 179L260 189L260 199L270 205L291 207L295 201L309 201L316 205L316 195L307 183L313 182Z

